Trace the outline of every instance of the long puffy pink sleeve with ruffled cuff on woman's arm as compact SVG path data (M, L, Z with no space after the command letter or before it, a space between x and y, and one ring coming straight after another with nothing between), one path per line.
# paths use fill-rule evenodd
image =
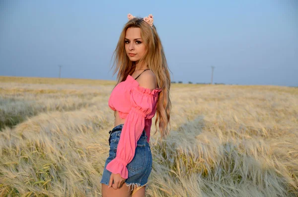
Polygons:
M130 163L145 128L145 119L151 119L155 115L156 102L160 89L150 90L145 87L133 87L130 90L130 102L132 108L123 125L116 157L106 169L114 174L120 174L122 178L128 178L127 164Z

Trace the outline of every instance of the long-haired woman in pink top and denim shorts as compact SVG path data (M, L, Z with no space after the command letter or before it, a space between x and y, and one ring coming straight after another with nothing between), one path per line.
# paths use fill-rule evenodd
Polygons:
M109 107L115 111L115 125L109 131L103 197L144 197L152 165L149 137L155 112L161 137L169 132L171 80L153 16L128 14L128 19L114 52L118 75Z

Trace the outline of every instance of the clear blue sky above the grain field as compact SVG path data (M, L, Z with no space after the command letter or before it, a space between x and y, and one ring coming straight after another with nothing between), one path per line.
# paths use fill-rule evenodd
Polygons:
M128 13L154 16L172 81L298 86L297 0L0 0L0 75L115 79Z

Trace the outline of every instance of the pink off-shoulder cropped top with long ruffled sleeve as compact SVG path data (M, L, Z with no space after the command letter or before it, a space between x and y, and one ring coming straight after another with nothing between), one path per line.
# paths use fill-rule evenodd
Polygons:
M140 87L139 82L131 75L120 82L112 91L109 107L118 111L121 119L126 119L123 125L115 159L106 169L122 178L128 178L127 164L130 163L137 147L137 141L145 129L147 140L150 138L152 118L156 112L156 102L161 89L150 90Z

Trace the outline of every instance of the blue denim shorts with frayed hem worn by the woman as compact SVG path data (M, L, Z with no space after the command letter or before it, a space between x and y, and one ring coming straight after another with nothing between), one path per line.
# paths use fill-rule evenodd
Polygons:
M112 129L112 131L116 129L122 129L123 124L118 125ZM106 169L106 166L110 161L112 161L116 157L117 146L120 139L120 131L115 131L110 135L110 150L109 150L109 157L107 158L103 173L102 179L100 183L105 185L109 185L111 172ZM152 155L149 143L147 142L147 135L145 130L137 142L136 152L133 160L127 164L128 169L128 178L126 179L125 183L126 186L132 186L132 190L134 187L144 186L148 182L148 177L151 173L152 168Z

